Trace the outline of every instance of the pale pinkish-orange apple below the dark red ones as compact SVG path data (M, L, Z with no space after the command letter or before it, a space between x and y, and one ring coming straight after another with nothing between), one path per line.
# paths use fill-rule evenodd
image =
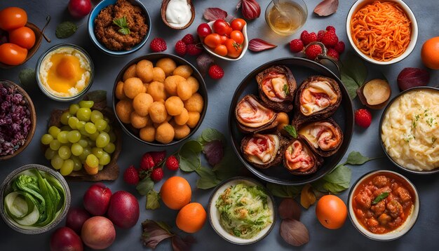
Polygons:
M83 242L95 250L103 250L116 239L113 223L102 216L95 216L84 222L81 230Z

